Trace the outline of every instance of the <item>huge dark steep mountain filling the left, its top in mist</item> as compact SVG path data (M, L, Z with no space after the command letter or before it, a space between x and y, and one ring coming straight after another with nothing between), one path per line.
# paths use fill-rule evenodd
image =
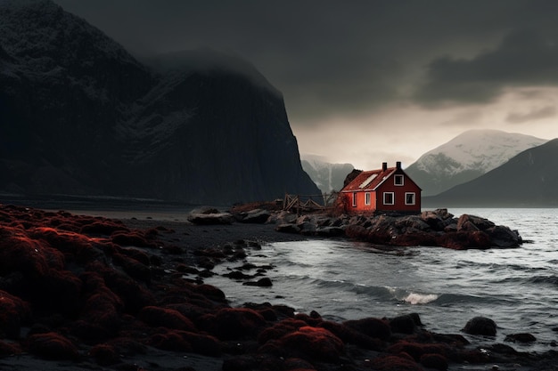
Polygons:
M0 192L226 205L319 194L283 96L209 50L144 64L50 0L0 0Z

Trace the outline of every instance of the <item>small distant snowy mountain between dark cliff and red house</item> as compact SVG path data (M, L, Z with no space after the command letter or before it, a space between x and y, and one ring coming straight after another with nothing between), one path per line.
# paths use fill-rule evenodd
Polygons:
M316 186L324 193L332 190L341 190L343 181L355 168L350 164L330 164L324 157L316 155L301 155L302 169L316 183Z

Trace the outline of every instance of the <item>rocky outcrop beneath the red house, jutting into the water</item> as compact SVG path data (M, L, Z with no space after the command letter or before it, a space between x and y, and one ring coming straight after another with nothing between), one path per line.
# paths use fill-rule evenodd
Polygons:
M346 236L388 246L443 246L462 250L517 247L522 243L516 230L496 225L485 218L464 214L455 218L447 209L417 215L328 217L324 214L279 213L276 230L324 237Z

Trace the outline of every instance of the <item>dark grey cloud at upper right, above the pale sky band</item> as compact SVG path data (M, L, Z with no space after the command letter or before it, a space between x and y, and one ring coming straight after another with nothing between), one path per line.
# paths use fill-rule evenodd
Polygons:
M558 85L558 39L523 29L472 59L432 60L414 99L434 106L488 103L506 87L529 85Z

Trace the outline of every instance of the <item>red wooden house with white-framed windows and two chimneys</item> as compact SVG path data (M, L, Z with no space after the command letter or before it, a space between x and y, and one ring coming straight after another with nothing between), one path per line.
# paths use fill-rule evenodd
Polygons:
M421 212L421 189L401 169L382 163L382 169L362 172L340 191L338 205L348 214Z

